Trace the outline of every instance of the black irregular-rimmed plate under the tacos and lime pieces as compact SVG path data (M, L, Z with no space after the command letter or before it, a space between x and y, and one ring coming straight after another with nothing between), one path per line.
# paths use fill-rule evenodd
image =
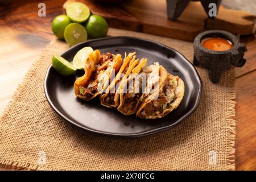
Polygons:
M199 105L202 83L196 69L175 49L150 40L131 37L112 37L89 40L65 51L63 56L72 61L76 52L90 46L101 52L137 52L137 57L146 57L147 64L159 61L168 72L178 75L185 83L185 94L181 104L164 118L139 119L135 115L126 117L115 109L101 106L98 98L86 102L76 98L73 84L78 76L63 77L50 66L44 80L46 98L52 108L68 122L98 134L120 137L141 137L170 129L192 114Z

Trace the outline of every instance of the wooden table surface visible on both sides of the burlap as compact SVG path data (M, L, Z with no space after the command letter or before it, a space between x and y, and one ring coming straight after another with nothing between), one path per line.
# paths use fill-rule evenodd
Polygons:
M43 1L46 17L38 17L40 2L0 1L0 113L40 51L55 38L51 20L63 13L65 1ZM236 169L256 170L255 35L242 37L241 42L248 51L246 65L236 69ZM1 169L9 168L2 166Z

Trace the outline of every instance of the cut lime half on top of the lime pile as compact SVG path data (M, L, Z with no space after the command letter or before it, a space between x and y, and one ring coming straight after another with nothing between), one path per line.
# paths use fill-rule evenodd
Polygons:
M81 2L74 2L68 5L66 13L71 21L75 23L85 22L90 16L89 8Z

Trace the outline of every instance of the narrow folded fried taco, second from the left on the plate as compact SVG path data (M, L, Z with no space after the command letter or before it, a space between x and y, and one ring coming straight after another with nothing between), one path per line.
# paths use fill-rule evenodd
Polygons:
M136 59L136 52L129 53L125 59L123 59L123 64L119 69L117 75L114 80L110 83L108 88L105 90L105 93L100 95L101 105L106 107L117 107L114 102L115 90L118 89L119 83L122 79L126 79L126 77L133 71L133 68L138 64L139 59ZM114 75L114 74L112 74Z

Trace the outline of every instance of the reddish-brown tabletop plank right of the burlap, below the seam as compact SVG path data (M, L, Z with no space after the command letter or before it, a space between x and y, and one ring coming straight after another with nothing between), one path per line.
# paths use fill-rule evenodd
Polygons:
M255 58L254 58L255 59ZM254 60L255 61L255 60ZM256 71L236 80L236 167L256 170Z

